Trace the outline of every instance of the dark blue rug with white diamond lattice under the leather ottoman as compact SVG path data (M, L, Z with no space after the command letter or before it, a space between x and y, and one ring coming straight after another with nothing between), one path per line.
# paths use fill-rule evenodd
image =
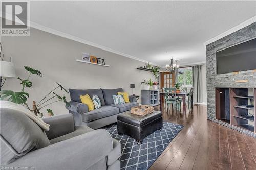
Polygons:
M163 122L163 127L144 138L139 145L134 138L118 135L117 124L105 127L111 136L121 142L121 170L145 170L155 162L167 145L183 128L183 125Z

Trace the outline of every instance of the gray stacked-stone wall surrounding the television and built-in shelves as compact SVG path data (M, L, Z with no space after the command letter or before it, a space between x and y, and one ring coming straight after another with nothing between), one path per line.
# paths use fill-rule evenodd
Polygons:
M215 42L212 42L206 46L206 69L207 69L207 114L208 119L214 122L220 123L232 129L236 129L242 133L256 137L256 134L238 128L236 126L224 123L216 119L215 112L215 88L216 87L239 87L239 88L256 88L256 71L242 71L230 74L217 75L216 66L216 51L223 48L241 43L243 41L256 38L256 22L251 25L242 28L232 34L227 35ZM256 57L255 57L256 60ZM245 83L236 83L234 80L248 79Z

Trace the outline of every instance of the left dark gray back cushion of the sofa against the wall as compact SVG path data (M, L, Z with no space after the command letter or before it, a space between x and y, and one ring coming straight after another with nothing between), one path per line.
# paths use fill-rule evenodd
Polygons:
M87 90L80 90L80 89L69 89L71 101L81 102L80 95L88 94L92 99L93 95L97 95L100 99L101 105L105 105L103 93L101 89L87 89Z

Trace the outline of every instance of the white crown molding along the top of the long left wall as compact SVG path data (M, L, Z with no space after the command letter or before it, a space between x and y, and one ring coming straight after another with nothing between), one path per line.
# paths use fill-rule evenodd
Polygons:
M2 14L2 11L1 11L1 14ZM6 14L6 19L10 20L11 17L12 17L12 15L10 15L8 13ZM38 24L36 22L32 22L32 21L28 21L28 22L30 23L30 27L35 28L37 30L41 30L41 31L44 31L44 32L47 32L47 33L51 33L51 34L54 34L54 35L57 35L57 36L60 36L60 37L63 37L63 38L67 38L67 39L70 39L70 40L73 40L73 41L76 41L76 42L80 42L80 43L83 43L83 44L86 44L86 45L90 45L90 46L99 48L101 50L105 50L105 51L108 51L108 52L111 52L111 53L115 53L115 54L118 54L120 56L131 58L131 59L134 59L134 60L137 60L137 61L141 61L141 62L144 62L144 63L145 62L149 62L152 65L159 65L159 64L147 61L147 60L143 60L143 59L137 58L135 56L131 56L129 54L125 54L125 53L113 50L112 48L109 48L109 47L106 47L106 46L103 46L103 45L100 45L100 44L96 44L94 42L91 42L91 41L88 41L88 40L84 40L82 38L79 38L79 37L76 37L76 36L73 36L73 35L70 35L70 34L67 34L67 33L64 33L64 32L61 32L61 31L49 28L49 27L46 27L46 26L42 26L42 25L40 25L40 24ZM18 23L20 23L20 22L18 22Z

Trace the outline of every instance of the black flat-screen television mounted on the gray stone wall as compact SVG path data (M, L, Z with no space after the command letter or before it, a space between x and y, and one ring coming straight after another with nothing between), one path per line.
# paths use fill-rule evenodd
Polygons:
M256 38L217 51L217 74L256 69Z

